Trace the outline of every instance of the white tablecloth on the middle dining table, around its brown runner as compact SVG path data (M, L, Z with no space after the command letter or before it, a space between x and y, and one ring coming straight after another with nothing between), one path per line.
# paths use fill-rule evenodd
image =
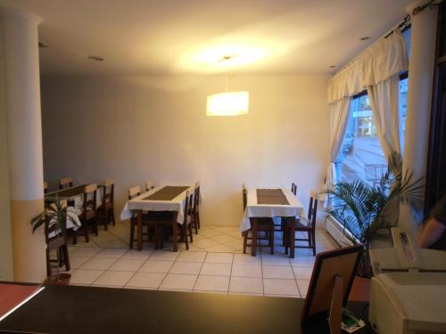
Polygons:
M146 211L178 211L177 222L183 224L185 220L185 199L186 191L189 191L189 195L194 193L195 186L189 186L186 191L181 192L173 200L144 200L147 196L152 195L154 192L161 190L164 185L154 187L150 191L137 196L133 200L128 200L122 212L120 213L120 220L130 219L132 217L132 210L146 210Z

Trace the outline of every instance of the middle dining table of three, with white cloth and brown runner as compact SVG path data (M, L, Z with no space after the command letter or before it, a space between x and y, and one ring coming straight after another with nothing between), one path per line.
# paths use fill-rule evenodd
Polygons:
M178 251L178 224L185 221L184 212L186 193L194 193L195 185L160 185L128 200L120 219L126 220L136 214L136 248L143 249L143 211L170 211L172 215L172 248ZM177 224L178 223L178 224Z

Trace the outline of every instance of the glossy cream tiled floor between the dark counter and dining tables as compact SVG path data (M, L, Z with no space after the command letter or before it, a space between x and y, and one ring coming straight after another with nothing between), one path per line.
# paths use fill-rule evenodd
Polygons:
M296 248L294 259L286 257L278 232L276 254L261 248L257 257L243 254L236 227L203 226L190 250L177 253L169 244L128 250L128 233L127 224L117 224L89 243L70 246L71 284L304 297L315 260L310 249ZM335 248L326 232L318 231L316 240L318 252Z

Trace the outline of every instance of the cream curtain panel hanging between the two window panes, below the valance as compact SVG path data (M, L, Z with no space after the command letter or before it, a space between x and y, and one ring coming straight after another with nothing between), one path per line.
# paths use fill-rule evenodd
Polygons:
M376 134L385 157L392 151L401 154L401 121L399 110L400 76L389 77L368 86L368 98L376 126Z

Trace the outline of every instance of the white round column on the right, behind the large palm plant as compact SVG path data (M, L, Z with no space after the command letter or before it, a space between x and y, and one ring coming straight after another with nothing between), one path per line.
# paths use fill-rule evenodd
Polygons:
M410 4L408 12L425 1ZM404 138L403 170L413 171L414 180L425 176L429 120L431 114L432 85L437 9L426 8L411 18L408 112ZM400 225L409 228L414 236L420 232L407 205L401 204Z

